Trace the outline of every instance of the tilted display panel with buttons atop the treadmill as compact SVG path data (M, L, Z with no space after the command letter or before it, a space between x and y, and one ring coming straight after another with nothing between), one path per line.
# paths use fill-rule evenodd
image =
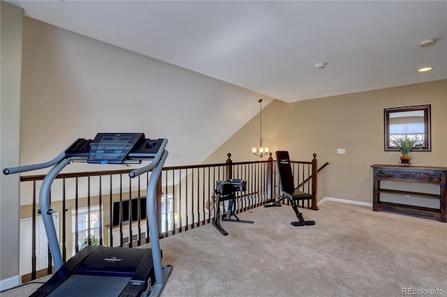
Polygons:
M132 148L144 140L144 133L98 133L90 144L87 162L122 164Z

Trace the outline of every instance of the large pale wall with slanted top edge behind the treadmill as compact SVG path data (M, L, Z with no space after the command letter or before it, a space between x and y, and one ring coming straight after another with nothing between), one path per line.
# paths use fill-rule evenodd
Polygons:
M168 138L166 165L198 164L272 100L29 17L23 40L22 164L97 132Z

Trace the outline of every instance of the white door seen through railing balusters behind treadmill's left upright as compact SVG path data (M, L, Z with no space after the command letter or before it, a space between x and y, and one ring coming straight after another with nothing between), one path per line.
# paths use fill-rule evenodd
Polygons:
M59 240L59 213L52 215L54 227ZM20 274L31 273L32 261L32 218L20 220ZM47 268L48 264L48 241L43 227L42 217L36 217L36 271Z

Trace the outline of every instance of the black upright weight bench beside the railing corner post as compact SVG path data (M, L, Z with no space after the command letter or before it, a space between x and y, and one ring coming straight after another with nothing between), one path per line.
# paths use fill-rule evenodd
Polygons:
M281 184L281 197L278 201L273 204L265 205L264 207L281 206L281 201L288 199L290 201L293 211L295 211L297 222L291 222L292 226L311 226L314 225L314 221L307 221L302 218L302 213L298 211L297 201L311 200L312 195L307 192L302 192L295 189L295 184L293 183L293 174L291 167L291 160L288 157L288 151L277 151L277 166L279 174L279 183Z

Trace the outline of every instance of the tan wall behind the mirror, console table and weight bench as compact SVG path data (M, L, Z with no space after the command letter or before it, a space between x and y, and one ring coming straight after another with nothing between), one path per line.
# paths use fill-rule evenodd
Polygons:
M275 100L263 110L263 138L270 151L288 150L293 160L330 162L318 175L318 198L372 202L373 164L395 164L398 152L384 151L383 109L432 105L432 151L412 152L416 166L447 167L447 80L285 103ZM256 116L205 162L253 157L259 131ZM246 139L250 139L247 143ZM242 147L241 144L244 144ZM346 154L337 155L337 148ZM266 157L264 157L266 159Z

